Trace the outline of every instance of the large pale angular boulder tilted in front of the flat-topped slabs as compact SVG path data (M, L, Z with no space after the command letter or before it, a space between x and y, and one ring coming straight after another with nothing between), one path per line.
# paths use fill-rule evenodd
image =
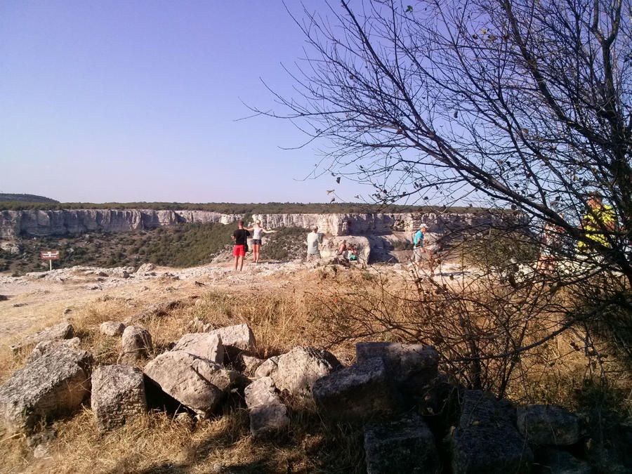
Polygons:
M183 350L171 350L150 360L145 375L203 418L213 412L237 378L234 371Z

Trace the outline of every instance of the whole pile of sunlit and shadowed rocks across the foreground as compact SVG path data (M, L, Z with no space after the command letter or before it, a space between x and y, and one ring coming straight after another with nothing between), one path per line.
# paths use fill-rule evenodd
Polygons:
M72 334L59 329L38 334ZM8 433L32 433L39 421L74 412L90 394L103 431L160 406L152 400L172 400L204 419L236 396L245 400L253 437L265 437L289 426L284 400L313 397L323 420L362 427L367 473L590 473L595 466L629 472L630 454L614 442L599 445L581 416L546 405L516 409L448 383L432 346L358 343L349 367L303 346L261 360L253 332L238 324L185 334L140 369L131 364L154 350L145 328L104 322L100 331L121 337L119 364L92 374L93 357L79 350L77 338L37 344L25 367L0 386ZM632 441L629 425L617 426L622 445Z

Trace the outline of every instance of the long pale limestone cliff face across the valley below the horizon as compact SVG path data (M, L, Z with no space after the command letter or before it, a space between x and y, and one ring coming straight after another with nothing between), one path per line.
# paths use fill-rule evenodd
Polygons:
M239 214L209 211L153 211L150 209L72 209L60 211L0 211L0 239L19 235L42 237L81 232L124 232L174 225L176 223L223 223L241 218ZM340 213L340 214L259 214L261 225L312 228L329 235L389 234L395 230L411 232L420 223L430 232L444 233L463 228L485 228L494 216L473 213Z

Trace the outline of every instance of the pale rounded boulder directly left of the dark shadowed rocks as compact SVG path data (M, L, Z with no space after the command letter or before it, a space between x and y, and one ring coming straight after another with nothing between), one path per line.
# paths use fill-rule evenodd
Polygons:
M311 392L318 378L340 367L340 362L327 350L298 345L289 353L279 356L277 367L270 376L279 390L287 390L292 395L305 395Z

